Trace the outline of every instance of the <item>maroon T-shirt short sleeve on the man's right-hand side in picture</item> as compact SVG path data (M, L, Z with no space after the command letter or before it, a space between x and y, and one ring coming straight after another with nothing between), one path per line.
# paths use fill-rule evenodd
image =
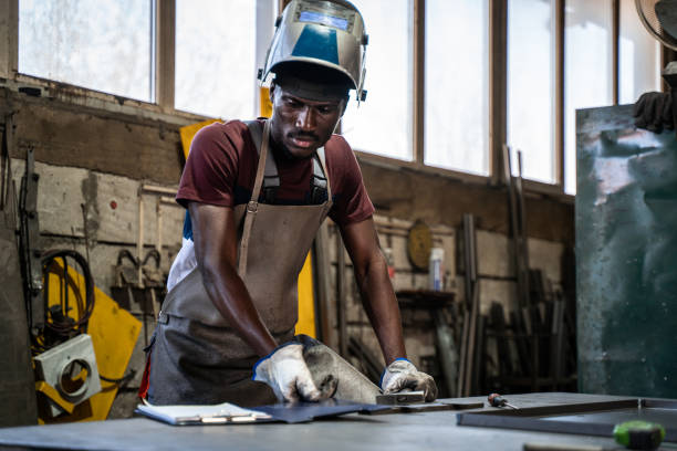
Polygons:
M353 150L341 136L335 137L336 160L327 161L336 164L336 170L329 168L330 175L335 175L338 182L335 187L334 204L330 210L330 218L338 226L347 226L362 222L374 214L374 206L367 195L362 179L362 171ZM330 180L331 181L331 180Z

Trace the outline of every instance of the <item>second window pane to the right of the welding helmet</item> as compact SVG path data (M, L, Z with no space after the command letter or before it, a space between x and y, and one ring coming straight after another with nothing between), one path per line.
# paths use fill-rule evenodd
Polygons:
M427 165L489 175L488 0L426 2Z

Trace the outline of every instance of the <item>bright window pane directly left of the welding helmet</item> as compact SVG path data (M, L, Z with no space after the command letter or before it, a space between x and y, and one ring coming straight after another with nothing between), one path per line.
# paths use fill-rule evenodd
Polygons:
M253 118L257 69L257 1L177 0L177 109Z

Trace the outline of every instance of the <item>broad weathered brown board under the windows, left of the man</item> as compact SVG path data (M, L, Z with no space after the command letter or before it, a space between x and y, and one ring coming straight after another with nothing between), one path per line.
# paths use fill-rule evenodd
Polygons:
M134 116L112 118L105 112L23 97L15 115L18 148L13 158L25 158L25 148L33 146L40 162L178 183L178 127Z

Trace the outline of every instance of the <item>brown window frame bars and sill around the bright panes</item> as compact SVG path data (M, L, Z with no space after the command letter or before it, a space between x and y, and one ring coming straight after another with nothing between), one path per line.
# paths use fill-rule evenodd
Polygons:
M4 85L17 88L18 85L31 84L40 87L50 96L91 107L113 109L142 117L157 117L159 114L170 123L185 123L186 119L202 120L206 117L178 111L174 107L175 84L175 33L176 1L152 1L153 35L152 44L154 71L152 85L155 102L143 102L124 98L32 75L18 71L19 60L19 0L0 2L0 15L7 21L0 27L0 77L6 78ZM281 12L290 0L279 0ZM413 0L413 119L412 149L413 160L403 161L381 155L355 149L358 160L395 169L409 169L424 174L441 176L466 182L500 186L503 183L502 146L507 136L507 67L508 67L508 1L489 0L489 176L437 168L424 164L424 112L425 112L425 8L426 0ZM574 196L564 192L564 20L566 0L554 1L554 161L555 183L545 183L524 179L527 191L558 197L564 201L573 201ZM613 105L618 104L618 49L619 49L619 0L612 0L612 72L613 72ZM257 33L259 34L259 32ZM663 48L660 64L666 60ZM0 83L2 85L2 83ZM665 90L665 84L663 84ZM257 96L259 93L257 93ZM256 101L256 99L252 99Z

